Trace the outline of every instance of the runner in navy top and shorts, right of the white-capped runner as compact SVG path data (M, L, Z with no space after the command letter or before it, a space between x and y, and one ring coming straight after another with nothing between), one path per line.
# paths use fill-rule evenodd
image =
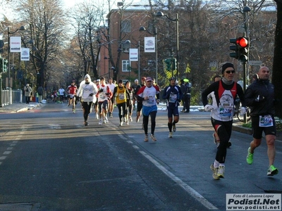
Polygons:
M176 132L176 123L179 121L178 106L182 98L182 91L179 86L176 86L175 77L171 77L169 82L170 85L164 89L163 99L166 100L168 111L168 138L172 138L173 132Z

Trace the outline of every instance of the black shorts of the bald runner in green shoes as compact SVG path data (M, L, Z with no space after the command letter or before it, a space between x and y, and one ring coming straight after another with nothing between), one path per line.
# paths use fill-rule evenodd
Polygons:
M255 139L262 139L262 132L265 135L274 135L276 136L276 124L274 115L271 115L273 126L271 127L259 127L259 116L252 116L252 136Z

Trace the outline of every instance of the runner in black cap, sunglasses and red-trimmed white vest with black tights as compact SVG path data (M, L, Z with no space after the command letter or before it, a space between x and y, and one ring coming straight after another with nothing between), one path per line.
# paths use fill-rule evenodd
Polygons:
M216 159L211 165L214 179L224 178L226 148L231 137L235 97L238 95L242 105L245 105L243 89L234 82L235 70L232 63L223 63L222 79L214 82L202 92L204 110L211 111L212 126L219 135L220 143L216 152ZM207 104L207 96L214 91L215 101ZM246 113L246 108L241 107L241 114Z

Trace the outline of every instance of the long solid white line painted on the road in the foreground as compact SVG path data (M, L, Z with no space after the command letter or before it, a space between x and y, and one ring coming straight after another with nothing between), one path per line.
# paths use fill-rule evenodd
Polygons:
M159 168L164 174L166 174L168 177L170 177L173 181L175 181L180 187L184 188L185 191L187 191L193 198L195 198L197 201L199 201L202 205L207 207L209 210L219 210L216 206L214 206L212 203L210 203L207 199L205 199L200 193L195 191L193 188L188 186L188 184L185 184L181 179L176 177L176 175L172 174L166 168L161 165L157 160L154 160L150 155L145 153L144 151L140 151L142 155L145 156L149 161L151 161L155 166Z

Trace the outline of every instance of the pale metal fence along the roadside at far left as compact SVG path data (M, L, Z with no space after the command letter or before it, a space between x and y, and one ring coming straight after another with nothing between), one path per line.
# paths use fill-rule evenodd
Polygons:
M1 102L0 106L6 106L13 103L23 103L23 91L12 90L11 88L7 88L1 91Z

